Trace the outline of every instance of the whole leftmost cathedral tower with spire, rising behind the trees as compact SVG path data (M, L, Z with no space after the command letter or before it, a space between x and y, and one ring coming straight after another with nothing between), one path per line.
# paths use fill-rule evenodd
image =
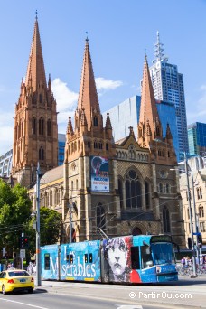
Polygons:
M12 173L26 187L35 182L40 163L42 173L57 166L58 131L52 82L47 83L36 17L25 81L15 105Z

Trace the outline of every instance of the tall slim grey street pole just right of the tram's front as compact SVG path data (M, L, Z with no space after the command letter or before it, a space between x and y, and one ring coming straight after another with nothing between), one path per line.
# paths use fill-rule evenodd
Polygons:
M191 226L192 267L193 267L193 274L194 274L194 276L196 276L196 261L195 261L195 257L194 257L194 235L193 235L193 225L192 225L191 192L190 192L189 175L188 175L188 164L187 164L186 153L184 153L184 164L185 164L185 172L186 172L186 179L187 179L187 195L188 195L188 206L189 206L190 226Z

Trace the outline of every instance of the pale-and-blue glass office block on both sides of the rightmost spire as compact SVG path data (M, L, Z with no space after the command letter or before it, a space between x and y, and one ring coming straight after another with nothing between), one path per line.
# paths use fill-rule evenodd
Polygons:
M129 132L129 126L133 126L137 138L137 124L139 122L140 96L127 98L124 102L108 110L111 119L113 136L115 141L125 138ZM166 135L166 127L169 124L173 136L173 146L179 160L179 145L176 126L175 107L172 103L156 100L156 108L163 126L163 136ZM104 123L107 112L103 113Z

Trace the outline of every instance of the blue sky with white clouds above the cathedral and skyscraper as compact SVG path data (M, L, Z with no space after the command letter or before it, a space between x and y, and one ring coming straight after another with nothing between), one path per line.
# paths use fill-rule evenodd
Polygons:
M205 0L7 0L0 10L0 155L13 144L36 9L60 133L76 108L86 32L102 112L140 94L145 49L151 65L159 31L169 62L183 73L188 124L206 122Z

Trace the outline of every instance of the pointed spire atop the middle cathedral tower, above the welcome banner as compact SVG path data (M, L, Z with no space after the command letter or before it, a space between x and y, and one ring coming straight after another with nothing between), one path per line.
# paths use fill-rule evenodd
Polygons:
M92 123L91 114L94 109L99 111L98 93L95 84L95 78L92 68L92 62L89 52L89 40L86 39L83 66L80 80L80 94L78 99L78 109L85 109L85 115L90 129Z

